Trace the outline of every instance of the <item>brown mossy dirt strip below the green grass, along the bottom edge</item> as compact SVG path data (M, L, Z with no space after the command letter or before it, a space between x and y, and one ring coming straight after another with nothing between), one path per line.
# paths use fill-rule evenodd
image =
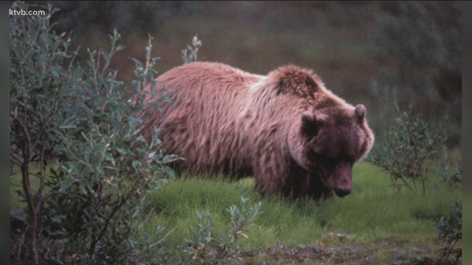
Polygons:
M455 264L454 258L436 262L432 242L382 240L370 243L325 243L287 247L278 244L265 250L242 251L237 264ZM462 250L459 248L458 251ZM456 264L462 264L459 260Z

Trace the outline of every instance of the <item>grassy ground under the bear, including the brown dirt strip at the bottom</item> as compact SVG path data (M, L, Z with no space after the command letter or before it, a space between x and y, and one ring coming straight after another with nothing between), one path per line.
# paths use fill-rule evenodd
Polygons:
M19 174L13 181L20 181ZM431 180L434 181L434 180ZM322 202L311 199L289 201L263 198L253 189L253 179L228 181L204 176L183 176L169 181L149 200L154 208L143 232L156 226L175 228L165 247L176 247L191 239L197 224L196 210L214 211L214 237L229 224L225 210L240 205L241 196L250 203L262 202L248 238L238 241L244 263L346 263L379 264L405 262L415 257L434 257L440 248L436 219L451 214L460 190L438 190L430 183L425 196L388 187L386 174L367 162L354 166L353 193ZM11 207L25 206L10 189ZM460 246L459 246L460 247Z

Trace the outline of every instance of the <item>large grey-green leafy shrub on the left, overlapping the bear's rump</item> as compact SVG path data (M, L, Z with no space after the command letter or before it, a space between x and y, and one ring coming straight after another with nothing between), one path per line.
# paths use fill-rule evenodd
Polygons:
M131 89L109 68L124 49L116 30L110 50L88 50L82 68L74 65L78 49L68 51L69 36L52 31L56 11L10 17L10 159L21 170L19 195L27 203L25 211L12 211L21 225L10 232L10 255L33 264L135 263L153 251L151 240L159 241L136 240L145 199L173 176L166 164L177 159L163 154L157 133L151 142L140 136L145 109L159 109L146 96L169 101L155 91L152 38L145 64L133 59Z

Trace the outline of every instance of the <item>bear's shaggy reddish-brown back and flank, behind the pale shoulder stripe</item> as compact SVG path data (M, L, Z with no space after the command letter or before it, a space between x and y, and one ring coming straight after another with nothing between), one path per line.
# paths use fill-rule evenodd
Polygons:
M185 157L180 168L214 173L247 171L237 153L242 142L236 120L247 105L252 84L262 78L221 63L175 67L157 79L172 102L160 104L161 112L152 111L147 126L162 128L159 137L163 147Z

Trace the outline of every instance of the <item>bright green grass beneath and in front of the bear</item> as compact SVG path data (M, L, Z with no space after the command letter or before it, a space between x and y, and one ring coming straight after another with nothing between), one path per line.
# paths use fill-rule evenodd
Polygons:
M265 248L278 242L287 246L316 243L330 232L346 235L350 242L376 240L433 240L437 236L436 218L451 213L452 202L461 199L460 190L437 190L430 184L426 195L388 187L389 178L367 162L354 166L353 193L343 199L322 202L311 199L289 201L262 198L253 189L253 179L231 182L223 178L184 176L171 180L169 186L155 192L149 200L154 212L145 225L152 232L157 225L168 230L177 226L165 241L166 246L184 244L197 223L196 210L214 211L213 223L219 234L227 228L226 208L240 205L240 198L262 202L263 213L251 227L249 238L239 244L246 250Z

